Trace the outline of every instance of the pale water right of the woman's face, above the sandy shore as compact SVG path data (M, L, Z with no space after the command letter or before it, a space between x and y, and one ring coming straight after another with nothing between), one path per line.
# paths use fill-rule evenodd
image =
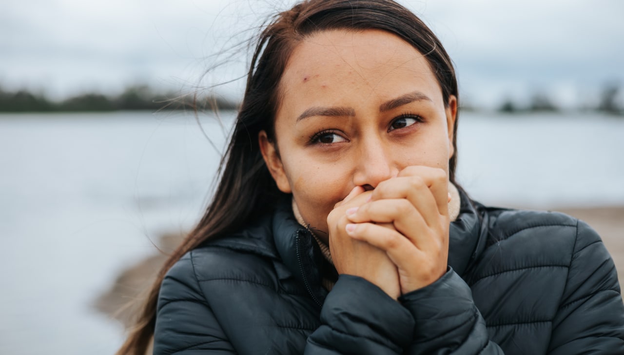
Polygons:
M462 115L458 180L489 204L624 205L624 118Z

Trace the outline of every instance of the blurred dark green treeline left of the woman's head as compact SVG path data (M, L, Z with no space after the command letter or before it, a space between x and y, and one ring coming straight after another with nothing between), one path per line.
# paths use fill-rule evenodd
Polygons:
M28 90L5 91L0 87L0 112L84 112L115 110L183 110L218 107L232 110L238 102L214 94L180 95L173 92L156 92L148 85L127 87L116 96L98 92L50 100L44 94Z

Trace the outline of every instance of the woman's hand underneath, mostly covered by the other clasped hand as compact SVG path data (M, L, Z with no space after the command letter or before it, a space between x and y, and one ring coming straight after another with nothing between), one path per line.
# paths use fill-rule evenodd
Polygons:
M397 299L400 296L399 275L386 251L366 241L351 238L346 232L346 225L349 223L346 210L364 205L371 194L372 192L364 192L364 188L358 186L343 201L336 203L327 216L329 251L338 273L360 276ZM394 230L391 224L386 228Z

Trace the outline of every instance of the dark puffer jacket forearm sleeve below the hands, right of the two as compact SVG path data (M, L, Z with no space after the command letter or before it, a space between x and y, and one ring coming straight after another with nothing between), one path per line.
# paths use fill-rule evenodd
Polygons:
M489 340L469 286L451 267L436 282L399 301L416 322L406 354L503 354Z

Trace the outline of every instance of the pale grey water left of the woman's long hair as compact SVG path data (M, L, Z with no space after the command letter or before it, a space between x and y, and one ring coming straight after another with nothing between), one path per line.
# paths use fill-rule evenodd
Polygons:
M193 117L149 113L4 116L0 149L0 354L114 353L95 296L197 220L218 155Z

